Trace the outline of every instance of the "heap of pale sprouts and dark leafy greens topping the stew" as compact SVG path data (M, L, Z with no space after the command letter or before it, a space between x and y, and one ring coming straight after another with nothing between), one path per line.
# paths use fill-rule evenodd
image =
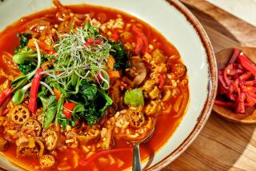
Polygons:
M89 39L102 41L86 46ZM54 69L43 74L48 75L46 83L62 93L57 103L55 123L65 129L66 125L74 125L79 118L94 125L112 104L105 92L110 86L106 73L110 43L88 22L84 28L59 35L54 47L58 53L58 56L50 57L54 60ZM76 103L71 118L62 113L66 101Z

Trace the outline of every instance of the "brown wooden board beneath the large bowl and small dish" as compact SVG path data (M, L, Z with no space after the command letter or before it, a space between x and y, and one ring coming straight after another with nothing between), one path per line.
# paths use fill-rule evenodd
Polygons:
M256 27L204 0L181 0L198 18L215 52L256 46ZM192 145L167 170L256 170L256 125L230 123L211 113Z

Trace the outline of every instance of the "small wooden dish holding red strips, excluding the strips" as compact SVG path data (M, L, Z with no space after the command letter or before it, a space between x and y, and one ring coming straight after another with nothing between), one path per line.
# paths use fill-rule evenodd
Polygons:
M237 46L234 48L238 48L242 50L244 54L247 55L248 58L252 62L256 64L256 48L254 47L245 47L245 46ZM215 54L217 59L218 69L222 69L229 62L230 57L233 54L234 48L228 48L225 50L221 50ZM219 105L214 105L214 111L218 113L221 117L225 118L228 121L243 123L243 124L253 124L256 123L256 109L250 108L246 109L245 114L235 113L233 109L224 108Z

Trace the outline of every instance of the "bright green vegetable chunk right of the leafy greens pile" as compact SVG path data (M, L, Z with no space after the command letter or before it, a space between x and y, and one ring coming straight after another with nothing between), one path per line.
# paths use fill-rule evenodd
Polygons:
M124 101L126 105L144 106L144 96L142 93L142 89L131 89L127 90L125 93Z

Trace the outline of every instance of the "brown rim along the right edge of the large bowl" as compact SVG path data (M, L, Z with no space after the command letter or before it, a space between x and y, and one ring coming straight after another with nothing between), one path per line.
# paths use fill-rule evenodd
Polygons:
M210 39L206 34L206 31L203 29L202 25L198 21L198 19L178 0L166 0L170 6L174 6L176 10L184 15L186 20L190 22L190 24L194 27L194 30L197 32L199 38L201 39L202 45L206 50L207 62L208 62L208 74L209 74L209 82L208 82L208 92L207 99L205 101L204 107L201 111L200 116L198 117L198 122L194 126L194 129L190 133L188 137L186 137L185 141L182 142L181 145L178 146L172 153L170 153L167 157L159 161L157 164L151 166L146 170L160 170L164 168L166 165L169 165L170 162L174 161L180 154L182 154L194 141L194 139L198 136L203 126L206 124L208 117L210 117L211 109L214 105L214 99L217 93L217 63L214 57L214 50L211 46Z

